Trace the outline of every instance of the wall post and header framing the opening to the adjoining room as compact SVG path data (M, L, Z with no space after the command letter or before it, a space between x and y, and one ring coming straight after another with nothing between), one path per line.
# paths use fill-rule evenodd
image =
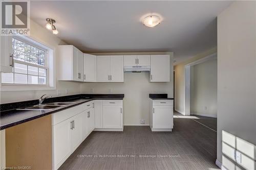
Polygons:
M174 66L175 70L175 110L184 114L185 111L185 65L214 54L217 52L217 48L212 48L204 53L200 53L195 57L186 60L183 63Z

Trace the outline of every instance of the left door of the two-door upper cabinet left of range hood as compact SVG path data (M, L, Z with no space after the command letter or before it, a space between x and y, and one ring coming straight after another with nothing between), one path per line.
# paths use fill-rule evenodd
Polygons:
M110 56L97 56L97 82L110 81Z

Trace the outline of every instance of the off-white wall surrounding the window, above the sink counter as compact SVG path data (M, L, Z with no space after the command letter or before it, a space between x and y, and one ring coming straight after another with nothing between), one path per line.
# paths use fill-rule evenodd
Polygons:
M57 45L66 44L61 41L45 27L39 26L34 21L30 21L31 37L42 44L47 46L53 46L57 50ZM60 33L61 34L61 33ZM57 51L55 51L55 65L57 66ZM55 69L57 71L57 69ZM68 94L66 94L66 89ZM60 91L60 95L69 95L80 93L80 83L78 82L64 82L56 81L55 90L31 90L31 91L1 91L1 100L0 103L10 103L10 102L19 102L26 100L38 99L42 94L49 94L52 96L57 96L57 90Z

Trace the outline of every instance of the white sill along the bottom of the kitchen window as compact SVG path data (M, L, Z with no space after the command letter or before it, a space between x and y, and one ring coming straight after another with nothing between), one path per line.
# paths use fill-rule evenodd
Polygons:
M31 90L55 90L55 87L44 85L17 85L1 84L0 91L31 91Z

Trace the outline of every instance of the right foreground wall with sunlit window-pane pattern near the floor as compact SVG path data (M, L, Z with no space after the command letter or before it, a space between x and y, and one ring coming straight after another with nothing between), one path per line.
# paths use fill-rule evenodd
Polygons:
M233 2L218 16L217 122L218 161L222 162L222 165L227 169L232 169L238 165L241 165L245 169L255 169L255 1ZM238 148L241 140L243 140L244 144L242 147ZM233 145L232 143L236 144ZM229 157L229 155L225 152L228 150L239 150L242 152L242 164L228 159L227 157ZM249 152L252 154L249 154ZM229 153L230 156L233 157L233 153ZM246 164L244 164L245 161Z

